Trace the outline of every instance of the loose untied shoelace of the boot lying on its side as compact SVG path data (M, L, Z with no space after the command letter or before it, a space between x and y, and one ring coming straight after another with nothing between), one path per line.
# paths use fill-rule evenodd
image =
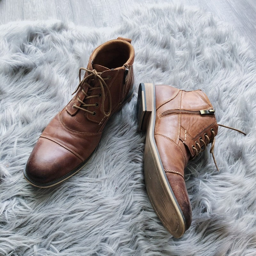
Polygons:
M238 129L235 129L235 128L232 128L232 127L229 127L229 126L226 126L226 125L223 125L223 124L218 124L218 126L222 126L222 127L225 127L225 128L228 128L228 129L231 129L231 130L234 130L234 131L237 131L237 132L240 132L240 133L243 133L244 135L246 135L246 133L238 130ZM217 170L219 171L219 168L217 166L217 163L216 163L216 159L215 159L215 156L214 156L214 153L213 153L213 149L214 149L214 144L215 144L215 132L213 129L211 129L211 133L212 133L212 147L210 149L210 153L212 154L212 158L213 158L213 161L214 161L214 164L217 168ZM207 139L207 141L205 142L202 137L199 138L199 141L203 142L204 144L204 148L202 149L202 147L200 146L200 144L196 141L196 146L198 147L198 150L197 148L193 145L192 148L194 149L194 151L196 152L195 156L192 158L192 160L199 155L200 152L203 152L206 148L206 146L210 143L210 138L208 137L208 135L206 133L204 133L204 137Z

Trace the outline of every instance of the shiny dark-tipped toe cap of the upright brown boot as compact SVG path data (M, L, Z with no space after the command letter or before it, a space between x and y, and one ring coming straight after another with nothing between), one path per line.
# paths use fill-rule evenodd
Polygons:
M40 137L28 158L24 175L33 185L45 187L65 179L81 163L68 149Z

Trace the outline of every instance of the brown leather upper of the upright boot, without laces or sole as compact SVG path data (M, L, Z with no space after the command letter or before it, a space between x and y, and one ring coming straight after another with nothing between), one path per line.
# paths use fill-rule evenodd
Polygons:
M87 69L95 69L97 72L102 72L102 78L109 77L105 82L110 90L112 99L110 116L124 103L124 100L133 87L134 75L132 64L134 50L130 43L131 39L120 38L100 45L92 52L87 66ZM118 49L116 49L116 46L118 46ZM104 58L108 57L109 59L112 56L111 54L113 56L121 54L119 48L122 50L127 49L127 52L122 54L128 56L126 58L127 60L120 67L109 69L100 65L100 61L102 60L103 63L106 62L107 60L104 60ZM116 53L116 51L119 52ZM103 54L101 55L101 53ZM99 63L94 64L95 58L97 58ZM124 57L122 57L122 60L116 60L115 58L111 61L111 65L118 64L124 59ZM124 65L129 65L129 73L125 83L124 74L126 67ZM86 72L84 76L87 75ZM92 81L91 86L99 86L99 81ZM95 111L96 116L92 116L92 114L81 109L74 108L74 104L77 106L81 105L77 100L78 97L80 97L80 100L84 100L85 98L82 89L88 92L88 86L83 84L82 88L78 90L67 106L46 126L36 142L25 170L31 180L39 184L46 184L61 178L88 159L99 144L102 130L110 116L106 117L102 113L102 97L94 97L86 100L86 104L99 103L99 107L87 107L89 111ZM101 90L92 90L88 93L90 95L97 95L101 93ZM105 109L108 109L109 100L106 89L105 94Z

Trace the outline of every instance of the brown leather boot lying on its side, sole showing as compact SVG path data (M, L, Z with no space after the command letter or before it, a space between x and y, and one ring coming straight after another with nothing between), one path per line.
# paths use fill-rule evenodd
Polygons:
M209 143L215 162L218 124L214 109L201 90L140 84L137 112L139 128L147 130L144 175L148 197L165 228L180 237L192 219L184 168Z

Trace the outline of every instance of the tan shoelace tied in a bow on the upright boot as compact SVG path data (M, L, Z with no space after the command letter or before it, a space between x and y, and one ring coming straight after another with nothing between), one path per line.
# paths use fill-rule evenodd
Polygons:
M85 76L83 80L81 80L81 70L85 70L87 71L88 73L90 73L88 76ZM95 98L95 97L99 97L101 98L102 97L102 104L101 104L101 110L102 110L102 113L104 116L108 117L110 116L110 113L111 113L111 95L110 95L110 91L109 91L109 88L105 82L105 80L109 80L111 77L108 76L106 78L102 78L101 76L101 73L100 72L97 72L95 69L93 70L90 70L90 69L87 69L87 68L80 68L79 69L79 84L76 88L76 91L72 93L75 94L78 89L81 87L82 88L82 85L84 83L86 83L86 85L89 87L88 89L88 92L89 91L92 91L92 90L96 90L96 89L101 89L101 93L97 94L97 95L88 95L86 92L84 92L84 89L82 89L82 92L83 94L85 95L85 98L84 100L87 100L87 99L90 99L90 98ZM98 79L99 80L99 84L100 86L98 87L92 87L89 83L87 83L87 80L91 78L92 80L92 77L94 77L94 79ZM104 87L107 88L107 94L108 94L108 99L109 99L109 109L108 109L108 112L105 112L105 109L104 109L104 104L105 104L105 92L104 92ZM89 111L88 109L85 109L86 107L99 107L99 103L95 103L95 104L84 104L84 102L82 100L80 100L80 98L78 97L77 99L81 105L80 107L76 106L76 104L73 105L74 108L79 108L85 112L88 112L90 114L92 114L92 116L95 116L96 115L96 112L95 111Z

